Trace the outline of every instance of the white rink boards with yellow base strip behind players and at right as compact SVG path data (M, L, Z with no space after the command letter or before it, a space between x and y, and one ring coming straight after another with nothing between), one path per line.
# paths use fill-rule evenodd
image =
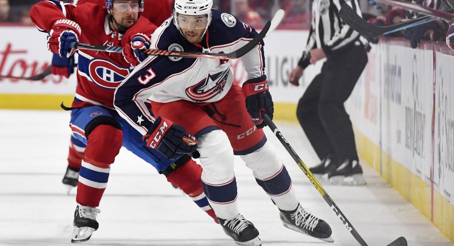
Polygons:
M30 76L50 63L46 35L36 28L0 26L0 32L10 37L0 40L0 74ZM277 120L297 122L296 102L321 66L306 69L300 86L289 84L306 39L306 31L280 30L265 39ZM422 46L395 39L374 46L346 107L361 157L454 241L454 53L444 43ZM233 69L236 83L247 79L241 60ZM75 85L75 76L0 79L0 108L60 109L62 101L71 103Z

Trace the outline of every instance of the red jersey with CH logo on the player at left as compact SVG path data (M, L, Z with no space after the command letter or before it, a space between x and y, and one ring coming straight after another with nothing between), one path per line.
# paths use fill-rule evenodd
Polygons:
M86 3L80 6L43 1L32 7L30 17L41 31L49 33L55 21L70 19L79 24L79 42L108 46L128 44L137 33L150 35L156 26L140 17L124 34L111 30L105 7ZM113 93L132 71L121 53L79 50L77 88L72 106L87 104L113 108ZM80 101L79 101L80 100Z

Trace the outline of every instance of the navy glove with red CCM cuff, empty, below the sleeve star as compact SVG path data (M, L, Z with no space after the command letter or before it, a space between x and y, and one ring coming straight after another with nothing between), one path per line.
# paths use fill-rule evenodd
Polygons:
M169 160L176 160L183 154L197 150L197 141L184 128L172 121L158 117L143 137L145 144L157 150Z

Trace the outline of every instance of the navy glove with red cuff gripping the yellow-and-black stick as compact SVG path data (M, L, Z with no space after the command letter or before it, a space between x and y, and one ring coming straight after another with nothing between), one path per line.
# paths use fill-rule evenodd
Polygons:
M273 98L268 91L266 75L244 82L242 91L246 97L246 108L251 114L252 121L257 125L257 128L266 127L262 119L262 112L267 113L271 119L273 119L274 113Z

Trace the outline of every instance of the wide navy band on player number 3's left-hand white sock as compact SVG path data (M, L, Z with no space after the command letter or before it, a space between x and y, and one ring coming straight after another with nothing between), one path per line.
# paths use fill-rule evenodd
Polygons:
M234 178L230 183L221 186L212 186L202 182L203 190L210 201L218 203L232 202L237 197L237 179Z

